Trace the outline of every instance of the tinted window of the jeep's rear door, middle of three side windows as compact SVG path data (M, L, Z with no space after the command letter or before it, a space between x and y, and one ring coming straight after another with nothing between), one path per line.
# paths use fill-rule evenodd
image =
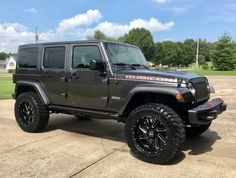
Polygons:
M45 68L63 69L65 65L64 46L46 47L44 49L43 66Z

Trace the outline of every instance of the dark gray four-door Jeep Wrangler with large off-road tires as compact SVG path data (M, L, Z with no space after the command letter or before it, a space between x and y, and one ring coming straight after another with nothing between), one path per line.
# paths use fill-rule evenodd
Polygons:
M151 163L172 160L185 135L202 134L226 110L222 99L209 100L206 77L149 69L141 50L123 43L22 45L13 79L24 131L42 131L50 113L116 119L133 154Z

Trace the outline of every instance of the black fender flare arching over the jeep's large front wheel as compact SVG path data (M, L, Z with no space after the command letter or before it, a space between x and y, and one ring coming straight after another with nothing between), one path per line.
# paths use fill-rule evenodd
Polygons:
M185 100L185 96L190 96L189 99L193 99L192 94L187 88L177 88L177 87L157 87L157 86L139 86L133 88L125 98L124 104L121 109L118 111L118 115L123 115L126 107L128 106L129 102L131 101L132 97L137 93L156 93L156 94L165 94L176 97L177 94L181 94L183 96L182 99L178 100L180 103L188 102ZM188 100L189 100L188 99Z

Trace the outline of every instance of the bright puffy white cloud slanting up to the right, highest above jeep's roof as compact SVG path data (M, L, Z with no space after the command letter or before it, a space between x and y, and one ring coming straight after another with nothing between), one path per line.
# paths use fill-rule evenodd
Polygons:
M88 10L84 14L77 14L74 17L69 19L64 19L59 23L59 27L57 31L63 33L67 30L83 26L83 25L91 25L95 22L98 22L102 18L102 15L99 10Z

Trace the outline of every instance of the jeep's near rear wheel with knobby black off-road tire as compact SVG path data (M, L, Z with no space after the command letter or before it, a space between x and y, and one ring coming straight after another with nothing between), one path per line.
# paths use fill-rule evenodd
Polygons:
M26 112L26 108L31 109ZM15 117L18 125L25 132L40 132L48 124L49 112L36 93L26 92L16 99Z

